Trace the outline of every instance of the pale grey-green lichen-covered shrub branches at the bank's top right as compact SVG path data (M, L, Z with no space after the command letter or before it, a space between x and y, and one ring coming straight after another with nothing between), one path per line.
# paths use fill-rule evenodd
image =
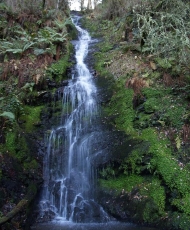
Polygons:
M190 61L190 24L187 17L190 6L183 1L173 2L175 4L160 1L168 6L164 11L153 8L136 14L139 36L145 40L143 51L164 57L165 63L161 65L166 68L171 65L167 61L169 57L174 58L179 65L188 66Z

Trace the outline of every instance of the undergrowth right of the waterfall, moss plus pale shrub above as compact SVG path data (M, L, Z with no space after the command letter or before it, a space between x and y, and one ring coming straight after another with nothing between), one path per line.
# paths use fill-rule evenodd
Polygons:
M111 6L113 1L106 4ZM187 3L177 4L179 8L185 6L186 12ZM108 8L102 8L102 14L97 13L97 21L102 20L102 25L92 30L105 35L105 39L99 45L100 52L95 54L96 70L99 77L114 79L112 97L104 104L104 115L114 128L125 131L140 142L121 160L118 168L114 164L106 164L99 172L99 182L108 193L114 190L118 197L122 194L133 200L138 207L136 215L139 219L142 217L144 223L160 223L168 229L186 230L190 224L187 152L190 136L189 93L183 88L189 84L189 48L185 52L183 50L184 46L189 47L189 25L185 26L186 13L180 16L181 12L179 14L179 9L175 8L172 15L174 5L169 1L160 1L156 5L146 1L140 8L137 4L131 12L130 24L126 23L128 16L125 17L117 7L113 14L107 11ZM164 26L166 22L167 29ZM183 22L185 24L181 27ZM134 61L145 67L148 65L149 69L129 72L126 68L126 74L115 78L115 70L109 68L112 66L112 50L114 55L119 53L117 49L123 51L125 46L120 45L123 41L121 34L125 28L130 31L128 27L133 30L133 38L125 40L126 46L135 47L134 44L141 43L140 52L137 49L132 51ZM119 36L112 35L116 29ZM179 36L182 33L183 36ZM131 50L127 49L114 61L122 59L123 55L131 55ZM138 203L142 205L138 206Z

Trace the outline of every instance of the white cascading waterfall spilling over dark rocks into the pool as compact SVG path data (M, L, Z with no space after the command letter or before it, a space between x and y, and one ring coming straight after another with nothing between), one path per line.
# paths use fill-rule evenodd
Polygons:
M79 38L73 41L76 64L72 79L62 95L60 124L52 127L44 156L44 185L39 202L39 223L35 230L153 230L110 217L95 201L96 170L93 159L102 154L105 133L100 120L97 87L85 63L89 33L80 27L80 17L73 16ZM41 220L41 221L40 221Z

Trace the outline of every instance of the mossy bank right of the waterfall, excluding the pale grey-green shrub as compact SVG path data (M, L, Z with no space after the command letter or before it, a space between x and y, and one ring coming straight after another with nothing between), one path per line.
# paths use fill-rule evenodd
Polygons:
M130 136L133 150L99 167L98 200L120 220L189 229L190 72L174 56L143 51L141 34L135 35L137 12L129 7L110 19L106 9L99 6L83 23L92 36L103 38L94 54L96 76L106 78L111 92L103 115Z

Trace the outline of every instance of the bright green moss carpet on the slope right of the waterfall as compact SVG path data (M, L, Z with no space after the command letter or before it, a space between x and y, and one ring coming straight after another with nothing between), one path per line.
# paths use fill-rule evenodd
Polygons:
M112 29L112 22L104 20L98 31L99 34L107 33L104 42L99 45L100 52L95 55L96 70L105 77L112 75L106 69L111 63L110 49L114 47L117 36L111 33ZM174 66L172 58L157 58L155 62L162 70L169 71ZM151 81L151 85L142 89L144 98L138 101L135 109L134 93L125 88L126 79L122 80L120 77L119 81L114 81L112 98L105 104L105 116L109 116L116 129L125 131L133 139L141 141L141 144L125 159L120 160L119 169L108 165L100 173L103 178L100 179L100 186L104 190L115 190L117 195L123 189L131 192L136 191L133 188L137 188L141 200L135 201L137 206L140 203L135 215L140 216L139 219L155 223L162 221L162 218L170 221L171 217L174 229L188 229L190 170L180 166L178 159L174 157L176 153L170 147L173 143L166 135L172 128L176 130L174 140L176 137L181 138L182 126L187 122L184 119L187 102L184 100L185 94L179 94L178 86L175 89L163 86L162 73L158 71L144 74ZM177 210L176 215L173 215L174 210ZM168 211L172 212L170 217L167 216Z

